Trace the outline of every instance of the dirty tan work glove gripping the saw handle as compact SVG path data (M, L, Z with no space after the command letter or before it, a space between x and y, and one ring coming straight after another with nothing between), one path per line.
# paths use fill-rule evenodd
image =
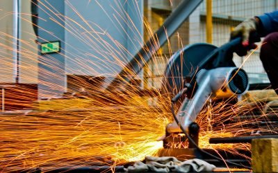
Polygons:
M256 31L256 26L259 24L258 18L247 19L236 26L231 32L231 39L235 37L242 37L243 46L248 46L250 33Z

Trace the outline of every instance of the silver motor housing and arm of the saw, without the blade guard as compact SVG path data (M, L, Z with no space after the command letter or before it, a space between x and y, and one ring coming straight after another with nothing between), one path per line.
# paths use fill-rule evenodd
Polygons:
M197 73L196 91L192 98L183 100L177 119L186 130L195 122L199 112L208 99L230 98L247 92L249 87L247 74L236 67L220 67L212 70L202 69ZM167 133L181 131L177 122L167 126Z

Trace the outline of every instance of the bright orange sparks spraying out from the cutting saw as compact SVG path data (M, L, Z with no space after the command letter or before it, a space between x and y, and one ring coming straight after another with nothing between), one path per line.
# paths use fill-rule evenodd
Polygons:
M80 21L74 21L74 19L57 14L57 10L47 1L43 4L47 11L42 10L49 15L50 20L60 24L72 37L76 37L101 56L88 52L83 53L74 46L68 45L84 57L67 54L64 55L65 58L72 60L86 72L95 73L99 77L102 75L115 76L116 71L101 74L92 66L103 68L113 64L124 68L126 62L123 62L122 55L131 55L131 53L124 48L124 45L113 39L106 30L102 30L97 24L86 21L69 1L66 3L76 13ZM172 4L172 1L170 3ZM99 3L98 5L100 6ZM103 7L101 9L104 10ZM109 16L117 29L120 30L123 27L120 20L126 19L124 24L133 28L134 33L140 34L137 28L134 28L136 25L133 24L131 17L122 11L123 8L120 4L113 9L115 10L113 18L107 12L106 15ZM142 15L139 11L136 9L138 15ZM6 13L6 15L12 14L13 12ZM63 19L67 21L67 26L61 25ZM144 25L147 37L152 37L154 31L147 19L144 20ZM97 31L96 28L100 31ZM49 33L49 31L45 31ZM49 34L53 35L53 33ZM32 33L28 33L28 35L35 37ZM55 35L53 36L55 37ZM108 42L104 37L108 37L111 42ZM140 35L140 37L144 36ZM177 35L177 37L180 38L181 35ZM12 57L7 53L7 50L13 51L13 42L10 42L10 39L15 38L12 35L0 33L0 39L8 42L8 45L0 44L5 48L0 50L0 63L4 66L13 66L10 61ZM152 46L160 46L157 39L154 37ZM37 64L33 63L38 62L38 55L33 53L33 50L37 50L37 46L33 46L31 40L19 39L19 42L19 53L26 59L20 64L20 69L26 71L38 69ZM138 44L138 40L133 40L132 44ZM179 47L182 46L183 43L180 41ZM154 56L156 57L165 57L154 59L156 68L158 68L158 64L167 63L167 59L172 55L170 39L168 39L168 48L170 55L163 55L161 52L155 53ZM100 63L92 61L86 56L95 57ZM40 63L59 71L54 65L58 62L51 58L51 55L48 57L40 56ZM0 70L6 78L13 76L11 71ZM60 78L49 71L42 70L40 73L47 73ZM136 74L131 75L132 77L137 76ZM148 71L148 75L151 79L155 76L153 71ZM36 73L31 73L31 75L25 75L24 79L33 81L35 77ZM0 115L0 172L12 172L31 167L45 167L44 171L46 171L67 165L81 167L106 164L115 167L126 162L143 160L145 156L158 155L163 143L156 141L156 139L165 134L166 125L173 120L168 95L162 95L159 89L154 88L149 89L152 89L152 93L148 90L140 90L138 86L132 84L129 84L128 89L124 89L124 93L120 91L103 93L101 82L97 82L97 77L90 78L90 80L95 84L88 84L82 80L74 81L76 86L81 86L81 91L67 95L64 99L42 100L33 104L32 111ZM53 85L49 81L44 82L44 84ZM28 98L33 94L33 91L22 88L22 98ZM268 95L267 97L272 96ZM259 103L264 102L265 99L267 98L256 98L256 95L249 93L236 104L230 104L229 100L226 100L206 106L197 118L197 123L201 127L200 147L225 149L227 152L240 155L236 149L248 150L250 149L249 144L209 144L209 138L241 136L250 134L252 131L277 133L277 127L270 124L266 126L259 124L261 120L268 122L268 114L256 116L252 113L254 109L263 111ZM13 97L6 100L6 104L14 104L15 102L17 100L14 100ZM17 104L20 107L24 103L17 102ZM256 122L258 125L254 126ZM187 146L187 143L175 143L172 147ZM113 168L111 170L113 171Z

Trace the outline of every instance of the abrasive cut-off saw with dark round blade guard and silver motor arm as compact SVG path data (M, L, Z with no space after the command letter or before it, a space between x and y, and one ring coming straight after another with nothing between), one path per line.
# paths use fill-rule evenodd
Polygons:
M259 42L259 37L252 36L250 42ZM197 136L199 129L195 120L207 100L236 97L248 90L247 74L233 62L234 52L243 49L238 37L220 47L205 43L191 44L170 58L162 93L172 102L176 98L182 101L175 117L189 135ZM167 146L165 141L169 142L171 134L181 133L179 125L176 121L167 125L164 146Z

